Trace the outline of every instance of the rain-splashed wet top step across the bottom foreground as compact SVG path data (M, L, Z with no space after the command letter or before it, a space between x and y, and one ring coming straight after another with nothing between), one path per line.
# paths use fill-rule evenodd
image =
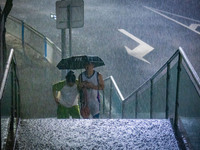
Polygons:
M25 119L17 149L179 149L169 120Z

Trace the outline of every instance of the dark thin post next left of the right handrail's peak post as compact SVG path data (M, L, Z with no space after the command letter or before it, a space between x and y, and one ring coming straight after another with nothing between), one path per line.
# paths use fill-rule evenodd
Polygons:
M169 80L170 80L170 63L167 64L167 83L166 83L166 107L165 107L165 119L169 116Z

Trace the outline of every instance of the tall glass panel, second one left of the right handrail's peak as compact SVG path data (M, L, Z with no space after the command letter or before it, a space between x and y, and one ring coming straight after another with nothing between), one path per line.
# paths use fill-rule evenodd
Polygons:
M167 69L163 70L153 80L152 91L152 118L165 118L166 110L166 85L167 85Z

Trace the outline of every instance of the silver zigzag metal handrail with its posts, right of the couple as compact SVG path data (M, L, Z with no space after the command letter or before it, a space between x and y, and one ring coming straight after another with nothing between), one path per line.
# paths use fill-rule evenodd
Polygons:
M123 97L123 95L121 94L114 78L112 76L110 77L107 77L106 79L104 79L104 81L107 81L107 80L111 80L111 84L112 86L114 85L114 88L116 89L116 92L118 93L119 95L119 100L122 101L122 118L123 118L123 113L124 113L124 106L125 106L125 102L133 95L136 95L137 97L137 94L138 92L143 89L147 84L150 84L150 103L152 103L153 101L153 81L156 77L158 77L160 75L160 73L162 73L162 71L164 71L165 69L167 69L167 78L166 78L166 108L165 108L165 117L168 118L168 93L169 93L169 70L170 70L170 66L171 66L171 63L175 60L175 58L178 58L177 59L177 62L178 62L178 70L177 70L177 83L176 83L176 86L177 86L177 89L176 89L176 102L175 102L175 117L174 117L174 125L176 126L177 123L178 123L178 105L179 105L179 84L180 84L180 64L182 63L182 60L184 60L185 62L185 68L188 69L189 73L191 74L190 78L191 80L193 79L194 81L194 85L196 84L197 86L195 86L195 89L197 91L200 91L200 79L199 79L199 76L197 75L196 71L194 70L192 64L190 63L189 59L187 58L185 52L183 51L183 49L181 47L179 47L178 50L175 51L175 53L169 58L169 60L152 76L150 77L148 80L146 80L141 86L139 86L136 90L134 90L130 95L128 95L126 98ZM137 102L137 98L136 98L136 102ZM150 106L150 118L152 118L152 106ZM137 109L137 108L136 108ZM136 114L136 118L137 118L137 114Z

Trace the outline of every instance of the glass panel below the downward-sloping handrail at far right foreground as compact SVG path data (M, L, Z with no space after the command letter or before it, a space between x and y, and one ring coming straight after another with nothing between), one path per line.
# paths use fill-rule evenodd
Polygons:
M200 95L190 77L181 65L178 114L192 147L197 150L200 148Z

